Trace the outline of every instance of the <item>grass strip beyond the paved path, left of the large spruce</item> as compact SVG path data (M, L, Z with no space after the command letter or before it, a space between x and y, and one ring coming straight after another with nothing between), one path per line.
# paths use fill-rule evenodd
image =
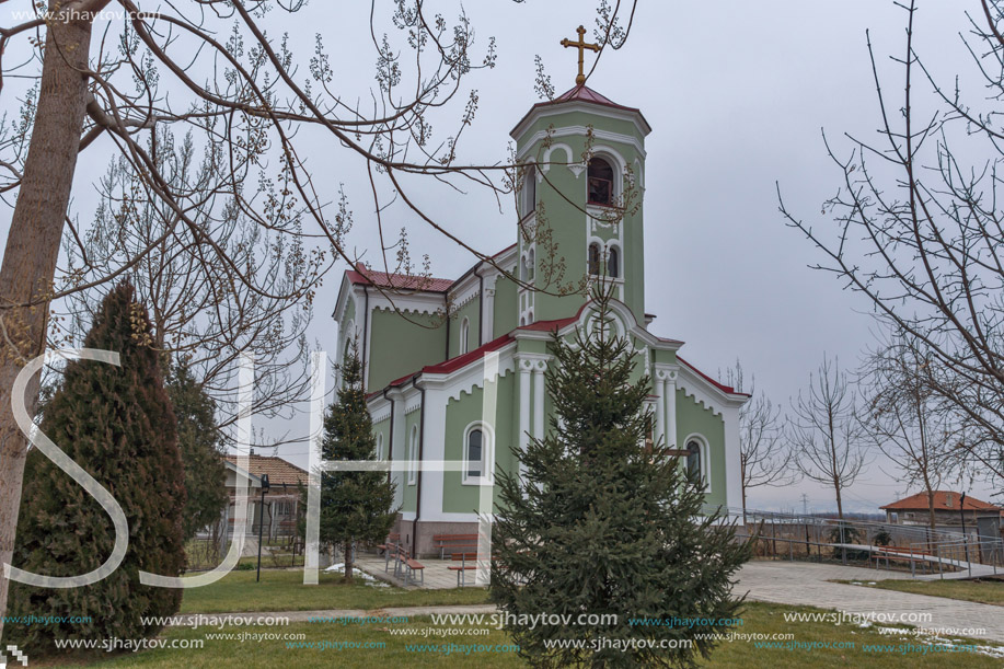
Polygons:
M483 588L460 590L404 590L366 585L345 585L341 574L321 573L316 586L303 585L303 570L231 572L211 586L185 591L182 613L228 613L236 611L314 611L320 609L380 609L431 604L481 604L487 602Z

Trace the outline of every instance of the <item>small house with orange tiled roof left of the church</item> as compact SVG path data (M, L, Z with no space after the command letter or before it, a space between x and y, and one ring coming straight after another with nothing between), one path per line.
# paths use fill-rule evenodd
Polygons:
M228 529L228 537L233 534L233 518L236 504L236 481L241 472L236 455L226 455L227 493L230 505L224 511L222 522ZM299 485L307 485L308 474L295 464L281 458L266 455L247 457L247 478L251 488L247 495L246 535L258 535L258 523L264 518L264 535L276 539L292 537L297 533L297 507L300 503ZM265 506L262 507L262 478L268 474L268 492L265 493Z

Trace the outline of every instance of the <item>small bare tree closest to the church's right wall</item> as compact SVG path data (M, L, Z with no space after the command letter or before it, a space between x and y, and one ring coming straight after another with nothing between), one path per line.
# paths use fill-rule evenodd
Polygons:
M739 472L742 480L742 514L746 515L747 492L764 485L786 486L798 478L795 453L784 434L781 407L757 392L755 379L745 388L742 364L726 373L727 383L751 395L739 410Z

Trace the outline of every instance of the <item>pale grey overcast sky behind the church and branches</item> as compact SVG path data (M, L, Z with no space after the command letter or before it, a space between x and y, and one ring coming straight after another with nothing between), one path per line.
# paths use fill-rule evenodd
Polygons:
M432 4L448 15L459 7L454 0ZM366 5L315 0L293 21L272 16L275 30L293 34L301 62L320 31L334 53L335 84L365 100L376 59ZM971 69L959 38L967 8L978 12L979 2L921 3L916 48L936 74ZM575 37L580 23L591 33L592 9L581 0L466 4L480 46L489 35L497 38L498 66L469 81L480 92L480 112L465 130L463 159L506 159L509 130L539 101L535 55L558 93L574 84L575 53L558 43ZM651 330L686 342L681 354L704 371L717 376L741 359L747 373L755 374L758 391L787 406L823 351L855 367L874 342L869 305L844 292L833 277L807 267L821 258L784 226L775 182L792 210L826 226L820 205L835 193L841 173L826 155L820 130L826 128L839 148L850 148L841 141L845 131L874 137L879 117L865 31L872 31L887 91L898 94L901 82L888 56L903 51L905 18L887 0L641 0L627 45L603 55L588 85L639 107L653 126L645 195L646 311L658 315ZM453 117L459 113L453 109ZM313 147L301 142L301 157L315 185L330 188L330 200L345 184L356 220L350 244L359 253L369 250L367 258L377 264L365 170L331 143L331 136ZM84 164L103 165L101 150L90 151ZM96 171L78 170L74 203L81 211L89 210L89 180ZM430 189L419 199L439 222L484 252L516 239L509 203L499 211L487 192ZM408 228L414 254L431 256L434 275L457 277L473 263L403 207L386 216L392 228ZM330 349L335 334L330 314L343 270L338 266L326 280L311 326L312 338ZM305 430L307 415L296 420ZM305 465L305 446L286 446L279 454ZM845 508L876 511L904 493L905 486L879 464L849 491ZM984 499L989 492L983 484L971 488ZM750 506L800 510L803 493L810 510L835 507L832 491L811 483L758 488Z

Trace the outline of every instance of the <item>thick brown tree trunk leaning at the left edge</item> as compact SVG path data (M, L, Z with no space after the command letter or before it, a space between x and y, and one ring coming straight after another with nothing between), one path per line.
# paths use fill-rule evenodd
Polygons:
M54 4L55 14L67 3ZM27 439L14 422L11 390L24 365L45 350L48 320L47 301L32 308L21 304L44 300L53 290L83 128L88 82L81 70L88 67L90 43L91 23L82 16L48 23L38 107L0 267L0 565L10 564L13 554L27 454ZM31 414L38 383L36 376L24 397ZM9 587L10 581L0 577L0 634Z

